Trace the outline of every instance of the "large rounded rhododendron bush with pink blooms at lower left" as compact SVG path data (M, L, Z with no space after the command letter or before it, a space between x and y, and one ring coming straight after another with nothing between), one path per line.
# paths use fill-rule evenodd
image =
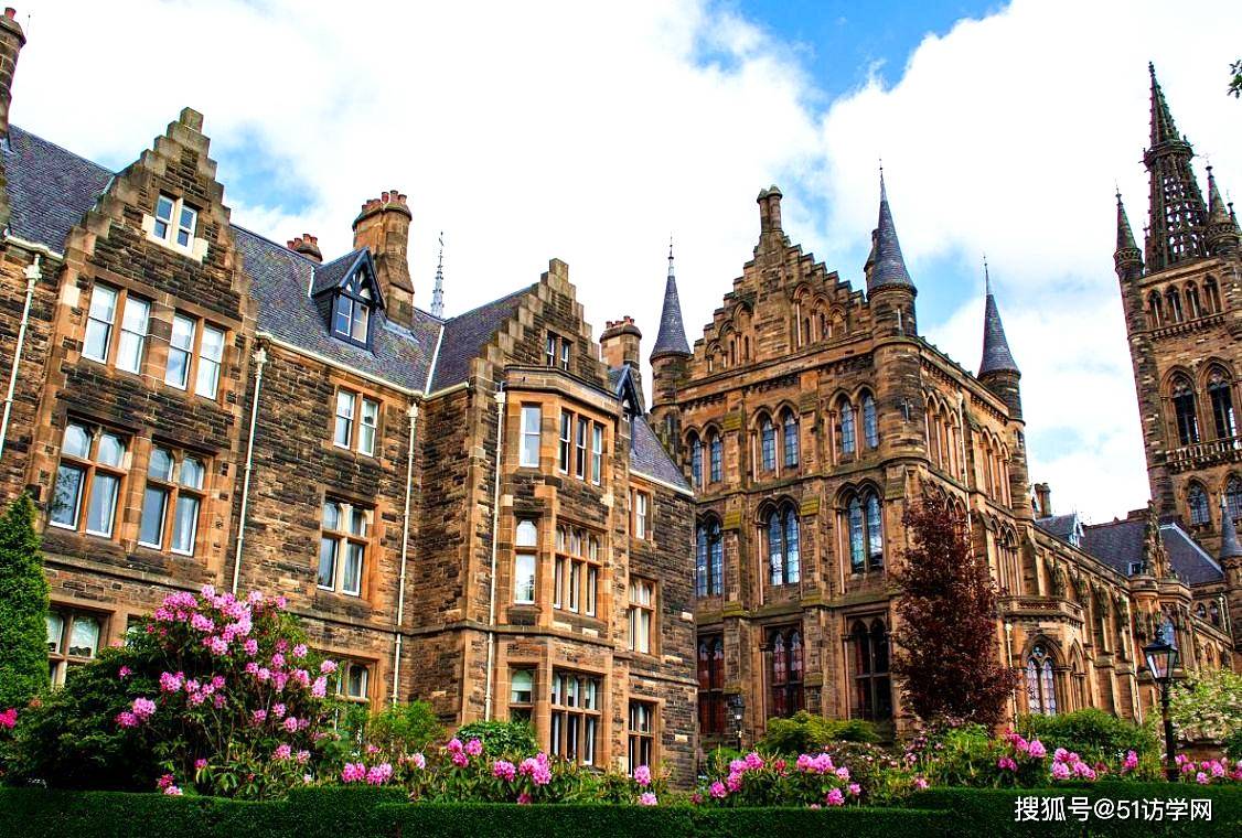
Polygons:
M173 593L124 648L22 714L10 780L279 796L335 747L334 672L283 597Z

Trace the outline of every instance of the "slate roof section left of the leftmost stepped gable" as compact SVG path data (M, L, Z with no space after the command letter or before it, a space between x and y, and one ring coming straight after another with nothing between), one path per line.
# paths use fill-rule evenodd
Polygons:
M4 150L9 228L53 251L65 248L70 230L94 206L112 173L17 125Z

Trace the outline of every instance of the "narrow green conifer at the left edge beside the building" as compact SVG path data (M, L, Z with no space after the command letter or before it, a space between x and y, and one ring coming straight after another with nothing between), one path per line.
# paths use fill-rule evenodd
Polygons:
M25 493L0 518L0 710L47 687L47 579Z

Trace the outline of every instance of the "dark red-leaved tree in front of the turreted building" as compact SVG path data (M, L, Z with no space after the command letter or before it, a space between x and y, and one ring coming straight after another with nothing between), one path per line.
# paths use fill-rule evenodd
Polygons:
M924 721L996 724L1017 683L997 659L996 583L970 547L965 519L924 494L905 513L914 546L895 574L898 628L893 672Z

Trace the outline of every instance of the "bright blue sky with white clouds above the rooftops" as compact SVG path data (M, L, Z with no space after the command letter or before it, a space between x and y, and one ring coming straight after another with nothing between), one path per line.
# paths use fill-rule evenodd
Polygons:
M596 335L632 314L650 346L673 233L694 340L770 182L857 287L883 158L920 328L977 365L986 252L1031 475L1097 521L1148 497L1112 253L1114 185L1146 219L1149 60L1197 164L1242 190L1236 0L20 6L15 123L119 168L191 106L233 220L329 256L399 187L424 307L445 231L450 313L559 257Z

